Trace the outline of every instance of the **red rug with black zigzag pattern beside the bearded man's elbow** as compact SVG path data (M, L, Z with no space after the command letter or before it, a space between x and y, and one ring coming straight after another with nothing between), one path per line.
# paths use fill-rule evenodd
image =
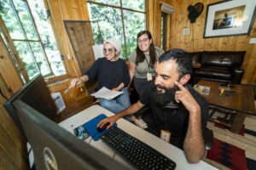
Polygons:
M219 139L213 139L212 150L207 151L207 158L232 170L247 170L245 150Z

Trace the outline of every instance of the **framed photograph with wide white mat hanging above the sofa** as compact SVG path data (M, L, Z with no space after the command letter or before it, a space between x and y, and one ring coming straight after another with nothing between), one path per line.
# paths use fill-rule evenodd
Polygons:
M208 4L204 38L249 35L255 19L255 6L255 0Z

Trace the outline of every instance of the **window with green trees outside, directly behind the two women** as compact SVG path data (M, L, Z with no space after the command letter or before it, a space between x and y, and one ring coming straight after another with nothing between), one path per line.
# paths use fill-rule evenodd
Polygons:
M137 33L146 30L144 0L87 1L96 44L116 38L122 43L122 57L126 59L137 47Z

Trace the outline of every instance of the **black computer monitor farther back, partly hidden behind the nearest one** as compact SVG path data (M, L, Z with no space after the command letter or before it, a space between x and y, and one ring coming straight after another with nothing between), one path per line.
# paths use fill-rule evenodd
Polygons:
M9 115L14 120L20 132L24 135L24 132L20 126L19 118L15 111L15 107L13 105L13 102L16 99L20 99L27 105L31 105L32 108L39 111L44 116L49 117L49 119L53 121L56 120L57 108L55 106L55 102L49 94L49 89L44 82L44 77L42 77L40 74L32 78L31 81L27 82L3 104L4 108L9 112Z

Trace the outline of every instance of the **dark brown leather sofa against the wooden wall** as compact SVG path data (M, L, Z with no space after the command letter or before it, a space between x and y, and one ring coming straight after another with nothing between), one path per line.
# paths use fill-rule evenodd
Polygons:
M200 79L240 84L244 70L241 69L245 51L191 52L193 59L193 82Z

